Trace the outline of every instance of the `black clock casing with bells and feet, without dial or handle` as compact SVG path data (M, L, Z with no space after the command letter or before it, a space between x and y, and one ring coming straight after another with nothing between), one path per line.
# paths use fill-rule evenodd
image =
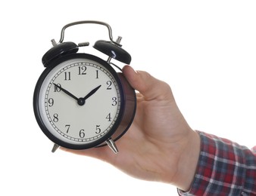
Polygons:
M120 40L119 40L120 42ZM84 45L83 45L84 46ZM39 80L36 83L36 87L33 94L33 110L36 117L36 121L39 124L42 132L48 136L48 139L51 139L55 143L54 149L52 152L55 152L58 149L58 146L63 146L67 149L89 149L93 147L100 147L103 145L109 145L111 149L117 153L117 147L114 144L114 141L120 139L124 133L129 129L130 125L133 122L133 118L136 113L136 93L133 87L130 86L129 82L126 80L122 72L116 72L111 66L114 65L111 63L111 58L119 60L122 63L130 64L131 57L121 45L115 41L96 41L94 46L98 51L103 52L108 55L108 60L102 60L99 57L96 57L92 54L77 53L79 50L79 44L76 45L73 42L62 42L60 44L54 44L49 51L45 53L42 57L42 63L46 67L44 72L39 77ZM46 127L44 121L42 121L40 111L39 111L39 92L42 87L42 82L45 80L45 77L48 75L55 66L63 63L66 60L74 58L84 58L88 60L94 60L95 62L105 66L109 72L114 76L117 81L118 87L120 89L120 114L118 115L117 121L114 123L114 126L105 136L97 139L95 142L90 142L82 145L74 145L68 142L64 142L61 139L58 139L54 136ZM114 65L116 66L116 65ZM118 67L117 67L118 68ZM120 68L119 68L120 69ZM120 69L121 71L121 69ZM57 146L57 147L56 147Z

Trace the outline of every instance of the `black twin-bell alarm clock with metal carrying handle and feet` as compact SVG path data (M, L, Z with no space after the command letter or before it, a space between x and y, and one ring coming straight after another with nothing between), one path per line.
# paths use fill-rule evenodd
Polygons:
M69 26L94 23L108 28L109 41L96 41L93 47L106 59L80 53L89 43L64 42ZM93 20L69 23L61 29L58 44L42 57L45 70L33 94L33 110L42 132L67 149L90 149L108 145L118 152L115 141L129 129L136 112L136 93L122 70L111 60L130 64L131 56L123 50L121 37L112 38L111 26Z

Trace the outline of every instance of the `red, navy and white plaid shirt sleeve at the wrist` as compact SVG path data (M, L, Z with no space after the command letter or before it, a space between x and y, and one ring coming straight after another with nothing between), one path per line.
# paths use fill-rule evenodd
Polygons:
M199 132L201 153L189 195L256 195L256 146L248 149L228 139Z

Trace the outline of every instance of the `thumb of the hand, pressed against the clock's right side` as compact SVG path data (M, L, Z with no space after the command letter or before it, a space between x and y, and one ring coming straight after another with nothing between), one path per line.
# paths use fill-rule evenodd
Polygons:
M170 86L164 81L151 76L148 72L135 71L131 66L123 67L123 75L131 86L142 93L147 100L172 98Z

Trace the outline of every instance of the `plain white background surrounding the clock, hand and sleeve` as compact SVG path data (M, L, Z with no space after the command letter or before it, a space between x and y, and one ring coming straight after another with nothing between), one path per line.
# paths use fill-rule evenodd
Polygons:
M33 90L50 40L77 20L105 21L114 39L123 36L131 65L170 84L192 128L255 145L255 10L254 1L2 1L0 195L176 195L172 185L102 161L52 154L33 115ZM66 35L90 47L108 38L92 25Z

